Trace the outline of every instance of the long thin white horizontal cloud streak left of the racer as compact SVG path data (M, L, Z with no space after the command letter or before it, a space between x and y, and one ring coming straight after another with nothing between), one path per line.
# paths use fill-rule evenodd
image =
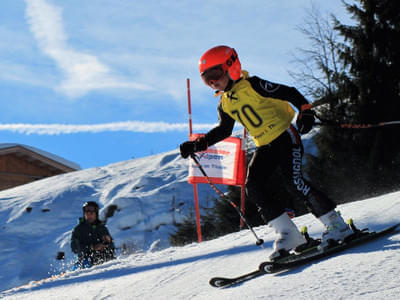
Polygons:
M209 130L216 124L193 124L193 129ZM0 131L11 131L20 134L60 135L74 133L100 133L110 131L129 131L142 133L162 133L187 131L187 123L126 121L104 124L0 124Z

